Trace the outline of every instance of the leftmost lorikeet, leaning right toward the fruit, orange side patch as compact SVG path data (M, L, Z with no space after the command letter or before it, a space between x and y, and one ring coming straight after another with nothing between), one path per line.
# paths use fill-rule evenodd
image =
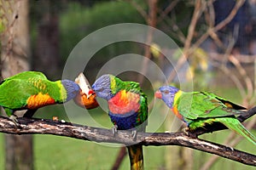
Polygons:
M8 116L14 116L14 111L27 110L24 116L32 117L40 107L73 99L79 90L73 81L51 82L41 72L24 71L1 82L0 105Z

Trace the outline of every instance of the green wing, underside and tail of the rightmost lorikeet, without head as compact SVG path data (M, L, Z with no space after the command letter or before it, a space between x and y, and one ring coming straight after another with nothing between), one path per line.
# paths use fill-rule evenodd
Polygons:
M180 114L183 115L185 122L191 123L190 126L193 129L203 126L204 123L221 122L256 144L253 134L236 119L237 114L240 115L244 112L233 108L245 109L244 107L233 104L215 94L201 92L183 93L180 96L180 101L182 101L178 104Z

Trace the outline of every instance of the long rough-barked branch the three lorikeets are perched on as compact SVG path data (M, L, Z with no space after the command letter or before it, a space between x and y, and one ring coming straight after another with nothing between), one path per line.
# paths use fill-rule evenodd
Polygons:
M143 145L180 145L195 150L201 150L218 156L228 158L233 161L256 166L256 156L246 152L235 150L230 147L214 144L202 139L196 139L186 135L186 133L137 133L137 139L132 138L131 131L118 131L113 136L112 129L99 127L88 127L71 122L56 122L44 119L18 118L20 127L10 121L8 117L0 116L0 132L13 134L53 134L66 136L74 139L84 139L98 143L118 143L118 144L143 144Z

